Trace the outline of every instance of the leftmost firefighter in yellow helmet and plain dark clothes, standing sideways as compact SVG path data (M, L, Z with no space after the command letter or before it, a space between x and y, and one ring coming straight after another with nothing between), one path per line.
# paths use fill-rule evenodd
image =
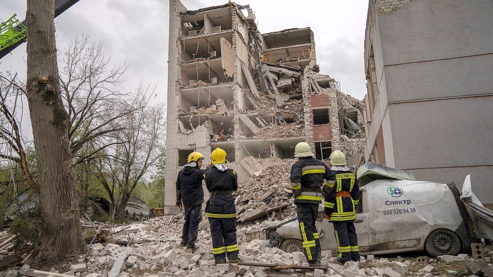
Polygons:
M187 164L180 170L177 178L178 207L185 206L185 224L183 224L182 242L180 246L191 248L193 251L197 241L199 223L202 220L202 203L204 203L204 189L202 180L205 170L200 169L204 156L193 152L188 156Z

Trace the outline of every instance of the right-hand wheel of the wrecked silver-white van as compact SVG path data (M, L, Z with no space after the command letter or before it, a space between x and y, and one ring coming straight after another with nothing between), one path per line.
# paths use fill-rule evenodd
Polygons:
M457 255L460 250L459 236L448 229L436 229L425 240L424 249L434 257Z

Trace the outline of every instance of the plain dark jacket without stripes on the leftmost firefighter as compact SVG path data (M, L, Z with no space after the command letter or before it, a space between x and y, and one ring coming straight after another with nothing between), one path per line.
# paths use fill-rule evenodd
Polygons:
M183 205L193 206L204 203L204 189L202 180L205 170L195 166L185 166L178 172L177 200L182 200Z

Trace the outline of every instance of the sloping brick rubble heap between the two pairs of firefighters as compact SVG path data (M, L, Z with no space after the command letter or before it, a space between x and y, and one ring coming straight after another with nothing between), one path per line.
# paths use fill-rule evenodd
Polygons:
M271 216L273 212L279 219L295 215L294 204L289 189L289 172L295 159L273 159L260 174L253 175L240 185L235 194L239 221L255 220ZM255 188L255 189L252 189Z

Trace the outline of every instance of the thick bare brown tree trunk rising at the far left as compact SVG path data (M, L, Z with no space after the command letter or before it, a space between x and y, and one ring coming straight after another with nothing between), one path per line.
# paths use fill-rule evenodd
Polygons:
M84 247L69 118L60 93L54 16L54 0L27 1L27 97L44 213L40 260L77 254Z

